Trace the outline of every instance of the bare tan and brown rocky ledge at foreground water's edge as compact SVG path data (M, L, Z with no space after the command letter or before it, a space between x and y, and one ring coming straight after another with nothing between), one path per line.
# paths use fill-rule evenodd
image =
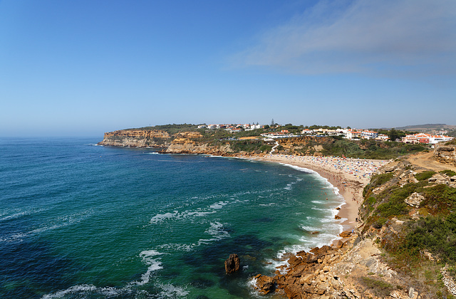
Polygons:
M380 250L371 239L343 236L347 235L333 246L290 254L286 266L274 276L255 276L254 288L288 298L419 298L413 289L393 290L400 278L380 261ZM372 285L378 287L375 293Z

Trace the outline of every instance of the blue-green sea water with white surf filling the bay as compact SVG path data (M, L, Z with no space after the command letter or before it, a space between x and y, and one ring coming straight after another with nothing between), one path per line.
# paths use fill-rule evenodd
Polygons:
M98 141L0 139L0 298L255 298L249 278L341 231L305 169Z

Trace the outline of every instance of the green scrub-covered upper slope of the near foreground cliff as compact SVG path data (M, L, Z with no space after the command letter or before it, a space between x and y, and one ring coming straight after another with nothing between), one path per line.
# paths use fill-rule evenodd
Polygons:
M440 269L456 278L456 172L427 166L404 157L371 179L363 190L361 234L375 239L384 261L422 293L452 298Z

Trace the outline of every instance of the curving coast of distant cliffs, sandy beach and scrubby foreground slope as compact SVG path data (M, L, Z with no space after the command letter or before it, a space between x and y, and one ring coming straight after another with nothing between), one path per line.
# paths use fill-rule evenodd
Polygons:
M347 219L341 240L285 255L285 265L274 276L253 278L259 293L375 299L456 295L456 247L451 243L456 239L454 140L433 149L341 137L290 137L268 143L220 138L216 132L177 132L170 137L155 132L162 136L143 137L130 131L106 133L100 145L291 164L318 172L339 189L346 204L338 216ZM270 154L274 147L278 153ZM342 157L328 157L331 152ZM383 160L343 157L358 154Z

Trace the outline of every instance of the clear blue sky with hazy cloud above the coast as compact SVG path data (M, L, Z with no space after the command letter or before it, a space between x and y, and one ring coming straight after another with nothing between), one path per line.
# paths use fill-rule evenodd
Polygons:
M456 125L455 0L0 0L0 137Z

